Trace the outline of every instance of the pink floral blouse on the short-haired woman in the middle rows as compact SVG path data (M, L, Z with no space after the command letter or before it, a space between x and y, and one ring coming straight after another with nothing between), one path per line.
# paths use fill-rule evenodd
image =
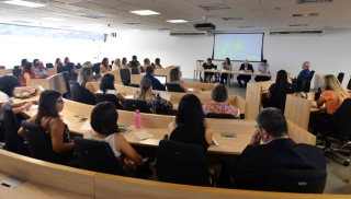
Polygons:
M230 114L234 117L240 117L240 110L228 103L210 102L203 106L204 114Z

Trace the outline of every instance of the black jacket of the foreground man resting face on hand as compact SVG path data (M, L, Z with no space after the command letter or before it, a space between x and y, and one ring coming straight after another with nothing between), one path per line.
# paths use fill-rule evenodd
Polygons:
M276 168L326 169L326 157L314 145L296 144L290 138L272 140L248 145L234 163L231 177L238 188L260 190Z

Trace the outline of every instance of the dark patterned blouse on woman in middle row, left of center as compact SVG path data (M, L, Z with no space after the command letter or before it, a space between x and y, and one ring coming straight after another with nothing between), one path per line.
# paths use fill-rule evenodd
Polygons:
M137 99L139 92L137 91L134 95L134 98ZM173 104L165 98L161 98L159 94L155 94L151 91L145 93L145 101L147 106L150 108L152 114L156 113L157 108L172 108Z

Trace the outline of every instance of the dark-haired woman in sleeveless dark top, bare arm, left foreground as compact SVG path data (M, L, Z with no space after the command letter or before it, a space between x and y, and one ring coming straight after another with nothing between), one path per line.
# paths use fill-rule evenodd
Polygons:
M37 114L29 119L30 122L39 125L46 130L47 141L53 145L61 163L75 157L75 142L70 140L68 126L58 114L64 109L64 104L58 91L43 91L38 101ZM22 127L19 134L24 137Z

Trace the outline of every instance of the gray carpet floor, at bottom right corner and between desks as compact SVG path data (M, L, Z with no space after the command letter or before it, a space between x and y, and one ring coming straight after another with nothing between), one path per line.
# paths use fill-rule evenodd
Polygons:
M188 79L185 81L193 81L192 79ZM238 84L231 83L231 86L228 87L228 94L230 95L239 95L246 98L246 89L239 87ZM349 156L351 159L351 156ZM350 166L343 166L332 160L326 159L327 161L327 184L325 188L325 194L341 194L341 195L350 195L351 186L348 185L350 177Z

